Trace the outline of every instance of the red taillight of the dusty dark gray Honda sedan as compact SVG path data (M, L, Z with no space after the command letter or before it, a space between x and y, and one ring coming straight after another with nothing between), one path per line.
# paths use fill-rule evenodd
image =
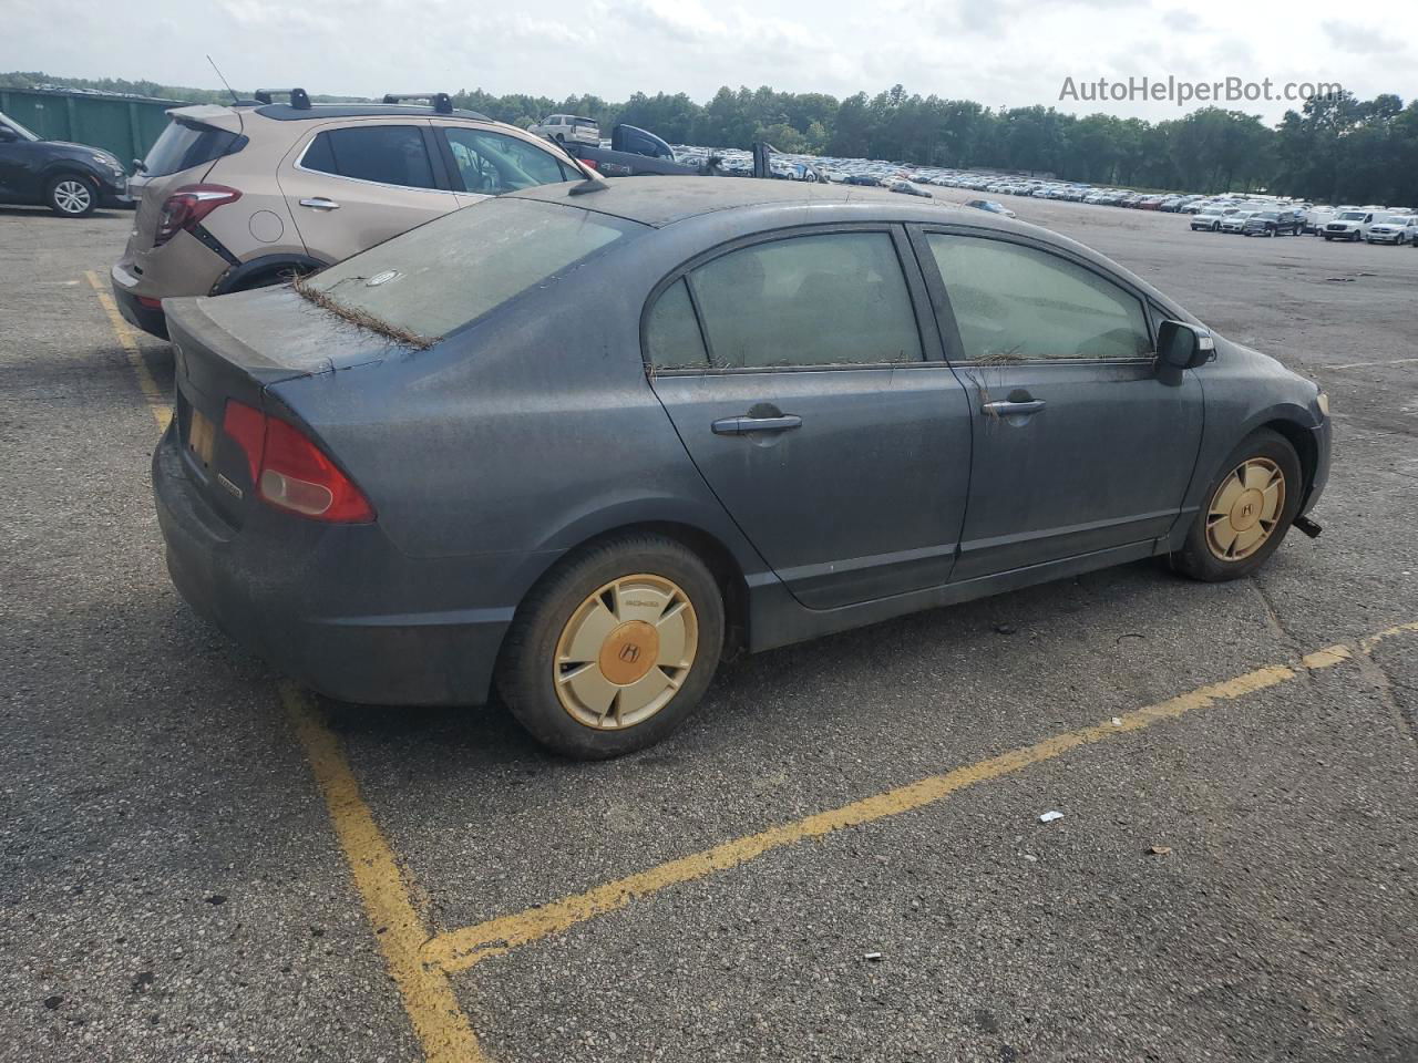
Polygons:
M245 454L251 482L264 502L333 523L374 519L360 489L295 425L231 400L221 427Z

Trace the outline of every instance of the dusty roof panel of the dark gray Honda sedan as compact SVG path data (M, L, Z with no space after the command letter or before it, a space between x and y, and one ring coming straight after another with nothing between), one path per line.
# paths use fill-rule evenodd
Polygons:
M571 207L611 214L664 228L676 221L747 207L797 207L813 204L876 203L883 220L942 220L943 210L957 204L922 203L883 189L855 184L815 184L807 181L754 180L746 177L614 177L608 187L571 197L567 184L542 184L509 193L518 198L566 203ZM912 204L910 200L916 200ZM889 211L889 218L888 218ZM973 220L971 220L973 221ZM1004 228L1001 225L1001 228Z

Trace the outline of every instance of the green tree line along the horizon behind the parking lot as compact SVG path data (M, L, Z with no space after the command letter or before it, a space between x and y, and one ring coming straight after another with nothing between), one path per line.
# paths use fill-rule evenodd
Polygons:
M58 79L40 72L0 74L0 86L65 84L221 102L228 94L149 81ZM313 96L350 99L349 96ZM900 85L847 99L821 92L720 88L698 103L683 92L634 94L624 102L594 95L454 96L461 108L529 126L546 115L642 126L671 143L749 147L766 140L781 152L886 159L959 169L1051 174L1090 184L1176 191L1271 191L1330 203L1418 206L1418 101L1353 94L1313 99L1275 126L1221 108L1147 122L1116 115L1071 115L1055 108L988 108L968 99L908 94Z

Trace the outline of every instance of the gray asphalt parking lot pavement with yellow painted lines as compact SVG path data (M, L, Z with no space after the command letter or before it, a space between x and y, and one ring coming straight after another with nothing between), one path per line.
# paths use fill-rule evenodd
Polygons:
M199 622L130 215L0 208L0 1059L1418 1059L1418 254L1010 206L1322 384L1324 534L744 658L608 764Z

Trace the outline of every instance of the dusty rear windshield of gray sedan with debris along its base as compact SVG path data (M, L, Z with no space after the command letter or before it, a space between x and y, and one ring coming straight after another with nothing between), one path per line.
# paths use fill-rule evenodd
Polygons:
M434 340L644 227L529 200L484 200L320 271L306 298Z

